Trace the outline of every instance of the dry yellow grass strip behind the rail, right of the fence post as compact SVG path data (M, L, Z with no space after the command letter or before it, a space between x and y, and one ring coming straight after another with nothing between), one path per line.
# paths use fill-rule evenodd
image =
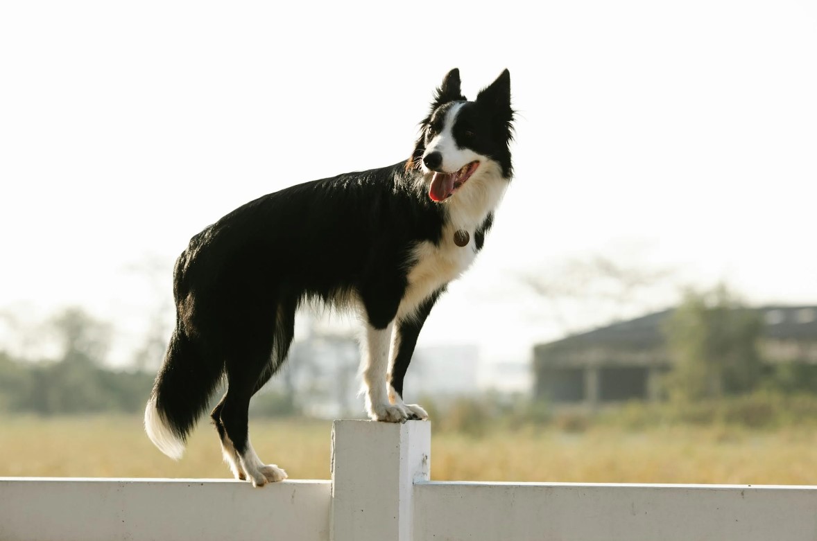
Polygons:
M817 484L817 432L725 428L591 428L441 437L435 479L485 481Z

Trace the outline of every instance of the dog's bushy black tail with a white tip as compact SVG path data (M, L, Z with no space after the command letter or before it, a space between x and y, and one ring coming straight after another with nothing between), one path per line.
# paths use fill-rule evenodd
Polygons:
M176 326L145 408L145 432L165 455L181 459L187 435L207 409L223 372L223 361L203 354Z

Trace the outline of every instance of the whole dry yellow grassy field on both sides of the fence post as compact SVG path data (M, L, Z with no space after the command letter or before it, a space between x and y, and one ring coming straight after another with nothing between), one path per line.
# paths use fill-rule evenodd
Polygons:
M253 420L261 459L292 478L329 477L331 422ZM488 428L483 437L435 431L431 478L817 485L817 428L592 426ZM174 462L145 437L141 418L4 417L0 476L229 477L217 436L200 423Z

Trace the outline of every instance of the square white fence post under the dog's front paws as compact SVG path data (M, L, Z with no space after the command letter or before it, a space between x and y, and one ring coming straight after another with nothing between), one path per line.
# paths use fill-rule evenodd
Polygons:
M413 484L430 467L427 421L335 421L332 541L411 541Z

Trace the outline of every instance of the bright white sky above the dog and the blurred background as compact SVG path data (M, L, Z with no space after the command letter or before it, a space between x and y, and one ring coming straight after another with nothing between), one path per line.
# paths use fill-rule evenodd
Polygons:
M516 276L597 254L815 304L815 66L796 0L2 2L0 309L138 341L194 233L408 157L453 67L470 98L511 70L516 178L421 344L525 360L560 329Z

